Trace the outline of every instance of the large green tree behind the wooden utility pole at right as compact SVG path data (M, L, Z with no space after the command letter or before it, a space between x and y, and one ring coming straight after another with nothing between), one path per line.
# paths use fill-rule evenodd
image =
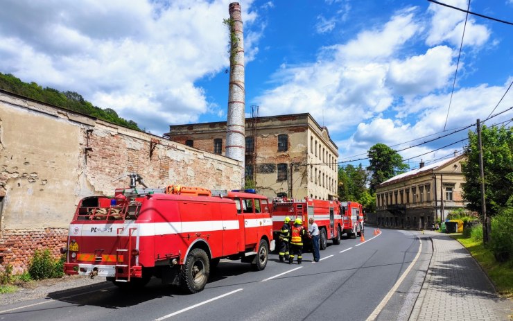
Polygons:
M482 163L485 170L485 199L488 216L513 206L513 129L482 126ZM467 208L481 213L481 180L477 133L469 131L467 160L462 163L465 183L463 198Z

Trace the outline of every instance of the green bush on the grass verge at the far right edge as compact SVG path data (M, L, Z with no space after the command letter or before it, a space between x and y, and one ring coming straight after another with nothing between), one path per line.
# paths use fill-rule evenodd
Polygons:
M513 208L500 211L492 217L489 248L499 262L505 262L513 253Z

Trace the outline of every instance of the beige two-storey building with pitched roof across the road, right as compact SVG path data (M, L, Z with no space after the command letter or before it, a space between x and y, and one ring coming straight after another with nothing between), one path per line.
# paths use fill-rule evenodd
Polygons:
M376 188L376 223L403 229L427 229L463 208L461 163L454 156L390 178Z

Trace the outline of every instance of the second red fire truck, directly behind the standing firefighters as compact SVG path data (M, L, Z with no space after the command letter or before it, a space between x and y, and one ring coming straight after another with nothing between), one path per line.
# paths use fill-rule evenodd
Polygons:
M308 229L308 219L313 217L319 227L319 247L325 250L329 238L333 244L340 244L342 234L342 219L340 216L340 202L337 200L288 200L287 198L275 198L272 200L272 229L275 239L278 239L279 231L284 224L286 216L292 223L295 218L301 218L303 225Z

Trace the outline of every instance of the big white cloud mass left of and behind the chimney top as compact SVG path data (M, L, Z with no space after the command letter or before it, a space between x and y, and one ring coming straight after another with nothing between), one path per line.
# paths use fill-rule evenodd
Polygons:
M194 83L229 64L223 24L228 4L6 0L0 11L0 70L79 92L162 134L170 124L210 112L204 90ZM251 5L242 6L249 25L257 17ZM246 35L247 61L258 53L262 30Z

